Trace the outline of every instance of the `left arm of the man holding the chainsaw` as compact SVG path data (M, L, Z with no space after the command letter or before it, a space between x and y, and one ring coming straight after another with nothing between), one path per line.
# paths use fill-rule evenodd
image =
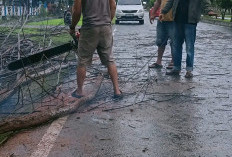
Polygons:
M75 33L75 27L81 18L81 0L75 0L72 8L72 24L70 25L70 34Z

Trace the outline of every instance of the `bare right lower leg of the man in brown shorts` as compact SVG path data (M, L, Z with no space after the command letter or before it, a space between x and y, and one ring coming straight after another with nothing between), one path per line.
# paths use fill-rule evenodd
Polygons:
M114 63L109 64L107 66L108 68L108 73L110 75L111 81L113 83L113 88L114 88L114 94L121 94L121 91L119 90L118 86L118 72L117 72L117 67Z

